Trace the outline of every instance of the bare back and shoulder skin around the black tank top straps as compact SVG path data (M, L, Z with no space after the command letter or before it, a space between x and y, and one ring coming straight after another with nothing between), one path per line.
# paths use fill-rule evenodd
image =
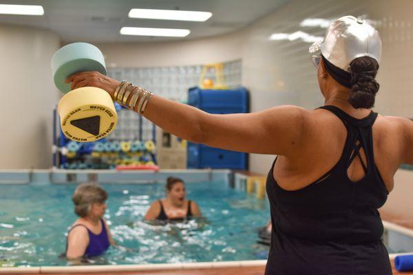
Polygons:
M370 110L348 112L356 119L363 119ZM387 190L393 189L393 176L403 161L403 123L394 116L378 116L372 127L374 163ZM285 190L299 190L314 183L336 165L343 153L347 130L341 120L328 110L310 112L304 125L304 141L297 147L297 154L279 156L273 176ZM361 159L367 165L366 154L360 150ZM365 176L361 160L356 157L348 167L348 177L357 182Z

